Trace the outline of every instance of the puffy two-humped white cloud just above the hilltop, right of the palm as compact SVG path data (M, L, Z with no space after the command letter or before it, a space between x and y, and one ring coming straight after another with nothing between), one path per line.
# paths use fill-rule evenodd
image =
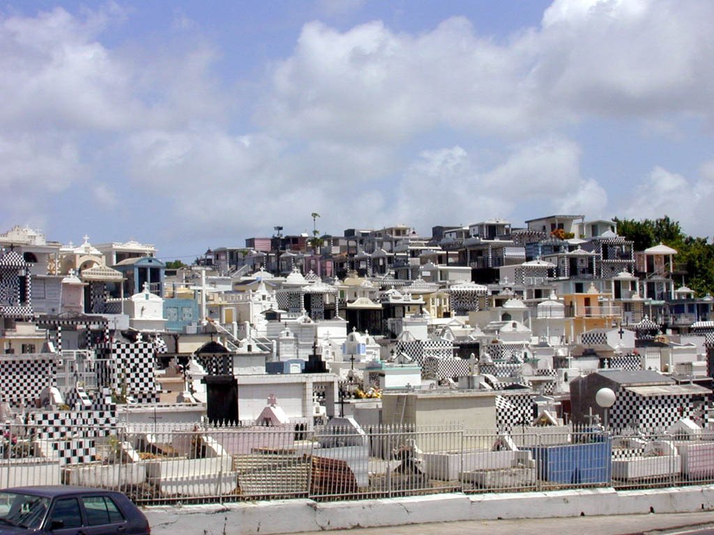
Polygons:
M425 226L470 224L551 211L599 213L605 190L580 175L580 148L550 139L511 148L502 163L479 170L461 147L424 151L401 180L396 215Z

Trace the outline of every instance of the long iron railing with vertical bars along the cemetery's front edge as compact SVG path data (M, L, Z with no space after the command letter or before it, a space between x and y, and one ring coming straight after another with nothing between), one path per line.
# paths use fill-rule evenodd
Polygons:
M367 499L714 483L714 433L6 423L0 484L77 484L138 504Z

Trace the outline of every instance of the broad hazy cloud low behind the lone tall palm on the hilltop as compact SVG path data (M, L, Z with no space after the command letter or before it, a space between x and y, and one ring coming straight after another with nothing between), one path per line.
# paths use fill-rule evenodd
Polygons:
M296 151L264 135L199 128L141 133L126 146L131 178L171 204L179 230L262 235L274 225L301 232L309 214L323 230L362 224L383 208L378 183L391 165L383 151L321 144Z

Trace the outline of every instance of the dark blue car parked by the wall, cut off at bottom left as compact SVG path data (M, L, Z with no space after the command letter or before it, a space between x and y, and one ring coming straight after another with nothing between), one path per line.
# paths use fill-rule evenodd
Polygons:
M151 535L146 516L121 492L79 486L0 491L0 535Z

